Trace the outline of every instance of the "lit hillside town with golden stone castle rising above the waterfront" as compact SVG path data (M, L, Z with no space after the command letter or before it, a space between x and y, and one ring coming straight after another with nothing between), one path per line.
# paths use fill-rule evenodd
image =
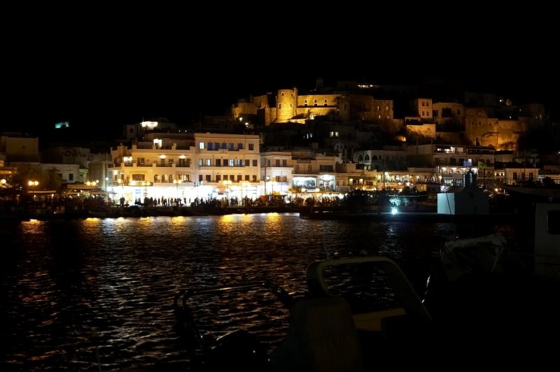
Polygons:
M336 201L355 189L435 195L461 187L468 171L490 194L560 184L560 145L542 140L559 138L559 129L542 104L425 91L318 78L313 89L242 97L197 122L123 123L105 149L57 141L71 122L52 123L46 145L25 130L3 132L2 213L29 201L55 213L60 201L241 206Z

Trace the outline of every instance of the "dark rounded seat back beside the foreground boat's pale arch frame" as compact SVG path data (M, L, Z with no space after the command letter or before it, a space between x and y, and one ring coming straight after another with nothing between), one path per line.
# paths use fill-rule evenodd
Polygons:
M297 301L286 339L271 359L273 371L363 371L346 300L331 296Z

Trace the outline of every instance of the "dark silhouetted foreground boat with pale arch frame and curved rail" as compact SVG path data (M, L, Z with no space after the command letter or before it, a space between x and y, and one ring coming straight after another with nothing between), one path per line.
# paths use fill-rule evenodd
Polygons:
M372 306L370 294L362 291L342 294L347 288L341 283L347 284L349 278L369 281L376 271L386 274L386 281L376 284L385 288L390 283L394 290L389 303ZM342 281L329 287L325 272ZM198 352L196 369L235 369L237 365L243 371L371 370L382 359L391 359L394 364L389 355L405 346L416 348L421 345L419 338L428 334L431 317L391 259L354 257L314 262L307 269L307 282L308 292L298 297L268 281L187 289L177 294L174 308L178 326ZM189 306L201 294L219 296L262 288L290 309L286 336L272 352L242 329L218 338L205 335ZM397 344L399 348L395 348Z

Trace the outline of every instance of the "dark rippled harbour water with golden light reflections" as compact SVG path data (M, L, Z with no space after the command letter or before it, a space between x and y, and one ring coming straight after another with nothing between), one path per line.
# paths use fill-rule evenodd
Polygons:
M180 289L245 277L300 293L307 265L325 252L367 252L394 259L422 296L438 250L454 233L452 224L276 213L3 224L1 369L188 368L188 348L174 331ZM273 329L263 323L269 308L258 299L246 307L211 299L192 306L216 329L234 327L241 312L271 340L281 331L283 320Z

